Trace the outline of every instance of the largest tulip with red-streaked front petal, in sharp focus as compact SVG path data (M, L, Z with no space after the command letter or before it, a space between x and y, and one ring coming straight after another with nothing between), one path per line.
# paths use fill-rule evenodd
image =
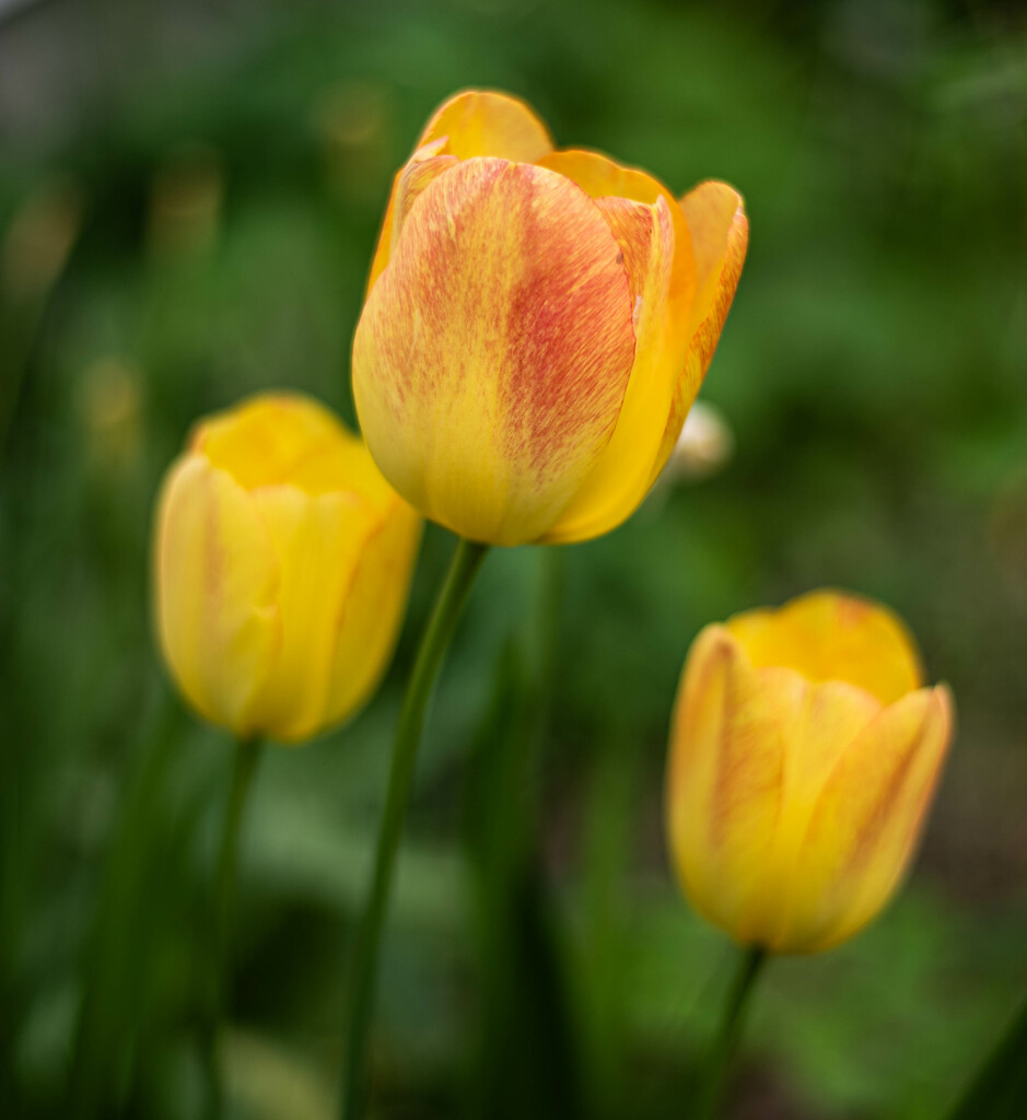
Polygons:
M616 528L671 454L748 241L741 197L676 200L554 150L501 93L461 93L395 177L353 346L375 461L474 541Z

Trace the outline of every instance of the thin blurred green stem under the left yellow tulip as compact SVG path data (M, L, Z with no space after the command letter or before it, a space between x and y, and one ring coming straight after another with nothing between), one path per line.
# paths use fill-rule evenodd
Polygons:
M231 980L228 962L231 959L232 915L235 907L235 878L239 867L239 838L260 754L261 741L256 737L240 738L235 744L235 753L232 757L232 785L228 790L228 805L225 811L225 825L221 837L221 852L217 858L217 878L214 881L214 999L206 1046L207 1061L211 1065L211 1111L213 1116L221 1116L222 1112L222 1089L216 1049L217 1036L226 1017L228 1005Z

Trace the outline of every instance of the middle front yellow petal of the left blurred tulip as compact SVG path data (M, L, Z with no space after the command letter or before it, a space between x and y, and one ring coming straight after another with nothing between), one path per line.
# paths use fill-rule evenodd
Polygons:
M249 719L276 739L298 741L327 722L346 592L382 522L354 494L267 486L253 493L253 503L282 573L281 648Z

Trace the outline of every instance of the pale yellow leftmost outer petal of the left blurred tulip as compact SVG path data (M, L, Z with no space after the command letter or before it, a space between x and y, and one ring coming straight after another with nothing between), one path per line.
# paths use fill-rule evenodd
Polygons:
M190 703L236 734L278 655L280 571L246 492L200 455L184 456L156 521L157 625Z

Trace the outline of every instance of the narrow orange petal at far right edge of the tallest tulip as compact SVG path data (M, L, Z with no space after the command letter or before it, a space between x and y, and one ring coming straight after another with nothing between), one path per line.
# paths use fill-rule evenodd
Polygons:
M702 379L713 358L749 242L741 195L726 183L702 183L681 199L698 270L698 289L689 315L689 345L652 480L674 449Z

